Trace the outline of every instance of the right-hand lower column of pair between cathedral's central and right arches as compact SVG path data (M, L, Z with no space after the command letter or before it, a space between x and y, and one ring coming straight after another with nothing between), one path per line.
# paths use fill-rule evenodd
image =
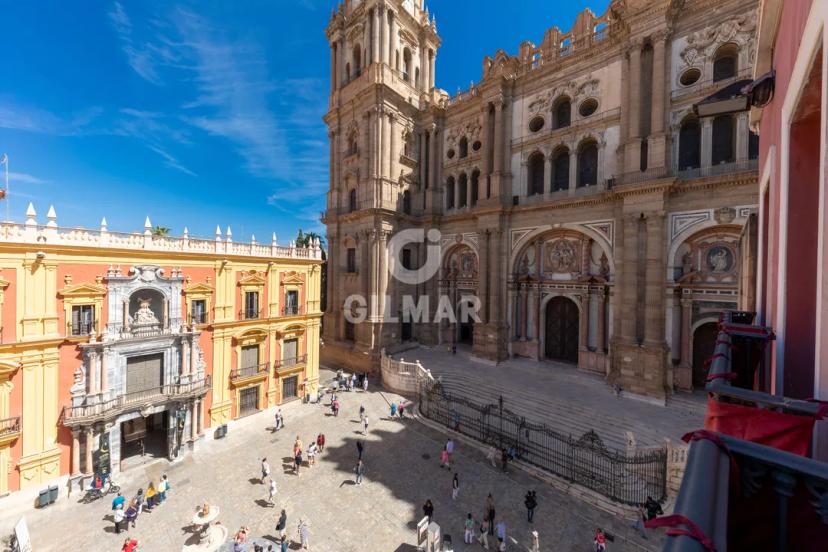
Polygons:
M647 271L644 340L650 346L664 344L664 214L647 217Z

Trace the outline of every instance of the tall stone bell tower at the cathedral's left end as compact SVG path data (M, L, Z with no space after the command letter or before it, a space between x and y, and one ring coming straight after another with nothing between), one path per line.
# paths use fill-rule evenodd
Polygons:
M399 324L386 324L383 314L392 311L386 297L400 292L389 283L388 237L412 225L415 209L433 210L439 201L428 197L428 168L420 163L434 140L416 120L434 90L440 39L423 0L346 0L332 13L326 35L331 254L324 335L333 360L366 370L386 343L399 341ZM369 299L359 324L342 312L354 294ZM335 343L349 343L347 354L336 355Z

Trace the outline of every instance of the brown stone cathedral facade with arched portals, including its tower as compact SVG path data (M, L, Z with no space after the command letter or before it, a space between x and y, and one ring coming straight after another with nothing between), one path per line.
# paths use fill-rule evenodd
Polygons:
M450 95L423 0L340 3L323 361L373 371L383 350L465 343L660 401L703 386L719 313L754 308L758 139L747 111L694 106L750 79L756 11L616 0L487 56ZM391 247L409 229L428 237ZM433 255L433 276L395 277ZM402 316L423 297L429 316ZM478 316L437 316L441 298Z

